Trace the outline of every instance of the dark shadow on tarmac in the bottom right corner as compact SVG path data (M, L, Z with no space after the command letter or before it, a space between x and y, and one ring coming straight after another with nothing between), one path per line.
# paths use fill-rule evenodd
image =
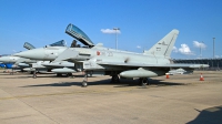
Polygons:
M209 107L199 112L200 114L188 124L222 124L222 105Z

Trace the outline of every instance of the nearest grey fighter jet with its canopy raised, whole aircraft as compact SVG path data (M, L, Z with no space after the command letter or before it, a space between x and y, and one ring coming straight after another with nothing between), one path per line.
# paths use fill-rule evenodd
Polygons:
M195 68L208 68L206 64L173 64L170 54L179 34L178 30L172 30L149 51L134 53L128 51L113 50L104 48L101 44L94 45L92 41L79 28L69 24L65 32L78 39L87 48L79 48L73 43L73 48L54 50L49 48L44 50L28 51L20 54L23 58L51 59L54 62L63 60L74 63L74 71L84 71L85 78L82 82L87 86L87 76L92 74L111 75L113 82L119 82L120 78L139 79L140 83L145 85L148 78L164 75L170 69L183 68L193 70ZM48 52L47 52L48 51ZM37 55L37 53L42 53ZM47 54L48 53L48 54ZM56 71L70 71L61 69ZM73 71L73 70L72 70Z

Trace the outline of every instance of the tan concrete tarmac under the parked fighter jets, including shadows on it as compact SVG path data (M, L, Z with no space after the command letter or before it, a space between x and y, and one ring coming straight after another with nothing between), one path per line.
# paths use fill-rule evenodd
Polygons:
M204 81L200 80L203 73ZM110 83L110 76L28 73L0 70L1 124L221 124L222 72Z

